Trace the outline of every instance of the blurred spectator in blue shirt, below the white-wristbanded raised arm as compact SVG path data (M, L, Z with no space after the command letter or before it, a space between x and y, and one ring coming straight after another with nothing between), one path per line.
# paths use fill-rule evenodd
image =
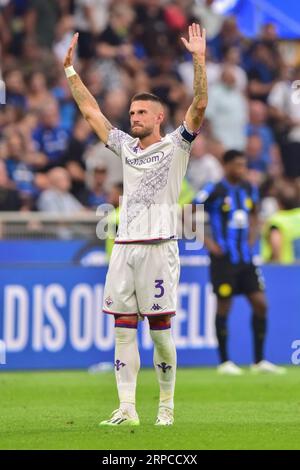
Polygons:
M68 132L59 124L58 105L55 101L44 104L41 125L33 132L36 150L48 157L45 169L62 164L69 143Z

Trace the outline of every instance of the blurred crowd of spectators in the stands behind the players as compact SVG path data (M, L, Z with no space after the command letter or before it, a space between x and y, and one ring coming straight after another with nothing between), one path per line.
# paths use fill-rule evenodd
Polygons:
M114 126L129 131L129 99L149 91L166 103L169 132L193 95L192 60L180 41L191 21L207 30L209 105L187 183L196 192L218 181L224 150L242 149L263 217L283 199L299 206L300 106L291 84L300 69L285 62L274 25L246 39L212 4L1 0L0 210L71 214L117 205L120 162L78 112L62 65L67 47L78 31L76 69Z

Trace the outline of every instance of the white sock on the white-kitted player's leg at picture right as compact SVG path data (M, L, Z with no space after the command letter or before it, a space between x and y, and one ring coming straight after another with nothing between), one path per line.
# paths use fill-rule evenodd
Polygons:
M150 330L154 343L154 368L156 370L160 397L159 406L174 409L176 379L176 349L171 329Z

